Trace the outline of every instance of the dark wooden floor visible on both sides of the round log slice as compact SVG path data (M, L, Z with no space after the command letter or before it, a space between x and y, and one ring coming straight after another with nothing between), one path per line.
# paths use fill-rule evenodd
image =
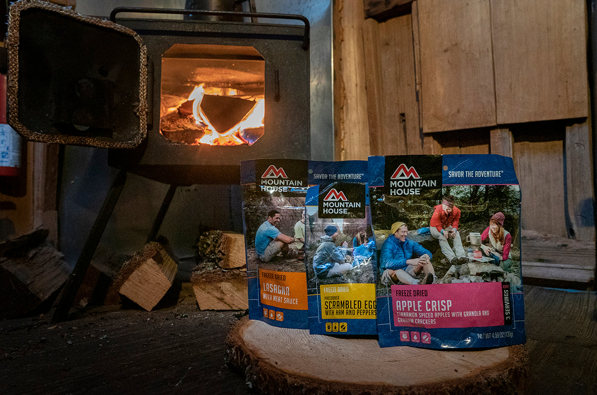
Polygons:
M185 283L171 307L96 308L0 321L0 394L249 394L224 365L239 314L199 311ZM595 292L525 286L527 394L597 394ZM441 352L441 351L438 351Z

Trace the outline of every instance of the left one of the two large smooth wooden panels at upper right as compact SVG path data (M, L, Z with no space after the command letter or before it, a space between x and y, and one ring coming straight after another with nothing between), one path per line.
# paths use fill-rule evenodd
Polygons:
M496 124L487 0L418 0L423 131Z

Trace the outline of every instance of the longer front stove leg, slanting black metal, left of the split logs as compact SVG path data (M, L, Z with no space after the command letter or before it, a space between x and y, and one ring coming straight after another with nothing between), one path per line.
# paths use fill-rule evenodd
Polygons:
M121 170L118 175L116 175L106 199L101 206L100 212L97 214L96 221L93 224L93 227L91 227L87 240L85 240L85 244L79 254L75 267L73 268L72 273L70 273L69 278L66 280L66 284L60 295L60 301L57 304L56 311L54 311L54 316L52 317L53 322L66 320L70 307L72 307L76 294L79 292L79 287L83 282L83 277L85 277L85 273L91 263L91 258L93 258L93 254L96 252L101 235L104 233L104 229L106 229L107 222L110 219L110 215L112 215L114 206L116 205L116 202L118 202L118 198L126 181L127 172Z

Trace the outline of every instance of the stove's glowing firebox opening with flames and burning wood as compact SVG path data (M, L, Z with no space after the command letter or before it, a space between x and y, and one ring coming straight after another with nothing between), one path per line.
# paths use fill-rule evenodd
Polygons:
M161 88L160 131L171 143L253 144L264 134L264 61L254 48L174 45Z

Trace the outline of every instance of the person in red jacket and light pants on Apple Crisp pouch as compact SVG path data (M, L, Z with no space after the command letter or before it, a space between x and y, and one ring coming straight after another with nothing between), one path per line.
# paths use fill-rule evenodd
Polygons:
M433 208L433 215L429 221L431 235L439 240L439 246L448 262L453 265L466 263L464 248L460 233L458 232L458 221L460 221L460 209L454 206L454 196L445 196L442 203ZM456 254L452 251L448 240L452 239L452 245Z

